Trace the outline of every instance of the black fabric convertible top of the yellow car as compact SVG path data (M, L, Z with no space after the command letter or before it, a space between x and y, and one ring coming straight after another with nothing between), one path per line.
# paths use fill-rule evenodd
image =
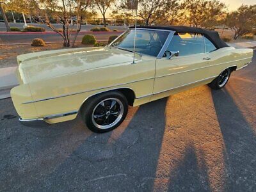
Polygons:
M132 28L134 28L134 26L130 27L130 29ZM172 30L176 31L177 33L201 33L206 36L217 49L228 47L228 45L221 40L217 31L209 31L201 28L191 28L186 26L137 26L137 28Z

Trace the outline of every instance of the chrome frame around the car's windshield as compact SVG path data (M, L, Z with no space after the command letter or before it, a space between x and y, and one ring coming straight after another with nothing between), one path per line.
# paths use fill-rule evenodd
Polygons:
M133 28L132 29L128 29L127 31L131 31L131 30L134 30ZM137 28L136 30L144 30L144 31L166 31L166 32L169 32L164 44L163 44L163 47L161 48L161 50L159 51L159 53L157 54L156 58L157 59L161 59L163 58L163 55L164 55L164 52L166 51L168 45L170 44L170 42L172 41L172 38L173 38L173 35L175 33L175 31L172 31L172 30L165 30L165 29L149 29L149 28ZM127 31L124 31L124 33L127 33ZM113 43L116 42L116 40L118 40L118 38L122 35L124 35L124 33L122 33L121 35L119 35L113 42L111 42L111 44L108 45L108 47L111 47L111 45Z

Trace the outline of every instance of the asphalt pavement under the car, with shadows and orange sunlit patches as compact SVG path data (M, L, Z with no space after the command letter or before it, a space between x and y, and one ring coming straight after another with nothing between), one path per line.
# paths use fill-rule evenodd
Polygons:
M79 118L24 127L0 100L1 191L255 191L255 85L254 57L223 90L131 108L106 134Z

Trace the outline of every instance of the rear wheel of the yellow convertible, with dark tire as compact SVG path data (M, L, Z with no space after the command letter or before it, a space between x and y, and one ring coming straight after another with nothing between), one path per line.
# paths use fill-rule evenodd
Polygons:
M225 84L228 83L230 74L230 68L226 68L225 70L223 70L223 72L221 72L218 77L216 77L211 83L209 83L209 86L214 90L220 90L225 86Z

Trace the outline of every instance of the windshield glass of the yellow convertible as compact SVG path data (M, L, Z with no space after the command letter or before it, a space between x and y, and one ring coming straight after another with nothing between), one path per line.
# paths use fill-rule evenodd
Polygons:
M111 47L133 52L134 49L134 29L125 32L122 36L111 44ZM135 52L157 56L163 47L168 36L168 31L155 31L138 29L135 38Z

